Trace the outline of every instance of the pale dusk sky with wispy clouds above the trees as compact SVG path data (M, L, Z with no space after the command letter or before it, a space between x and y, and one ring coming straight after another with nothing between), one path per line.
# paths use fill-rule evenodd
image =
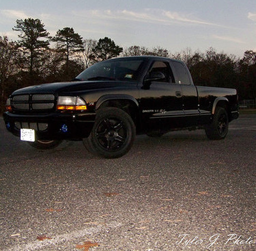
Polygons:
M124 48L256 51L256 0L1 0L0 36L17 41L12 28L29 17L51 36L72 27L83 39L109 37Z

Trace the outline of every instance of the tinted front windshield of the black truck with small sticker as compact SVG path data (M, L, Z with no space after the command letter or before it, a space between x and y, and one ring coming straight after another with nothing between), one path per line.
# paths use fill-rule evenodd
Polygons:
M142 62L142 59L122 59L97 63L80 73L76 79L81 81L137 81Z

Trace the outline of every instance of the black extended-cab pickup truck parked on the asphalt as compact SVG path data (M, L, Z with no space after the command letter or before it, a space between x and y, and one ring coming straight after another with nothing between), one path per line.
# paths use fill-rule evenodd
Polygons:
M19 89L6 108L6 128L33 147L83 140L105 158L126 154L136 134L205 129L224 139L239 115L235 89L194 86L183 62L151 56L110 59L71 82Z

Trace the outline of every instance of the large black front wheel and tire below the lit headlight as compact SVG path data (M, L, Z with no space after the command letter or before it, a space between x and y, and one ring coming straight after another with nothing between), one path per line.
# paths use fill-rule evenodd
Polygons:
M118 108L102 108L88 138L83 139L86 149L104 158L119 158L132 147L136 129L132 118Z

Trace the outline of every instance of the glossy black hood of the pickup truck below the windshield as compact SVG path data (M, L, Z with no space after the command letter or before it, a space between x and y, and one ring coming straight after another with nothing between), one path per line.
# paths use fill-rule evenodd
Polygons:
M38 86L29 86L14 91L12 95L19 94L35 94L35 93L72 93L81 91L90 91L94 89L115 89L126 88L127 86L136 85L137 82L127 81L75 81L75 82L60 82L50 84L40 84Z

